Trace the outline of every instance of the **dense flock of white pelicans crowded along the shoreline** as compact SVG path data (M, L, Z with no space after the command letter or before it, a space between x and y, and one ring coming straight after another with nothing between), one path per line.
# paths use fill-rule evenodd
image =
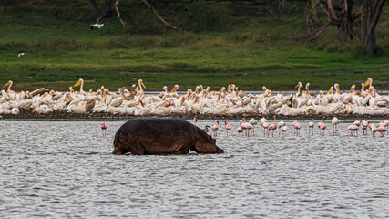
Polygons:
M271 95L271 90L263 87L263 93L245 93L231 84L227 88L211 91L202 85L179 94L179 85L170 91L163 87L160 94L145 94L141 79L138 86L118 89L111 92L104 86L101 89L84 91L84 80L79 79L67 92L49 89L15 92L11 89L13 81L8 81L1 90L0 115L50 114L59 111L84 115L128 115L128 116L386 116L389 115L389 96L380 95L373 87L373 79L368 78L361 84L361 91L355 85L341 93L339 85L334 84L326 94L321 90L312 95L307 83L296 86L291 95ZM369 86L369 87L367 87ZM4 90L7 87L6 90ZM75 88L79 87L79 91ZM365 89L366 88L366 89ZM245 123L244 121L242 123Z

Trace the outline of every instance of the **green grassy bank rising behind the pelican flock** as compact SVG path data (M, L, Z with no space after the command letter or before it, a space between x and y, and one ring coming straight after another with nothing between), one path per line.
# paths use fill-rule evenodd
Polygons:
M124 31L114 19L90 30L97 16L88 1L4 2L0 83L11 79L16 89L67 89L78 78L87 89L129 87L139 78L148 89L230 83L293 89L298 81L313 89L335 82L347 89L366 78L373 78L376 88L389 88L388 4L377 27L381 52L367 57L357 41L338 39L335 27L315 41L304 39L306 8L299 1L290 1L283 16L271 5L237 2L157 8L180 31L163 26L140 1L120 3L122 18L132 26ZM20 52L26 56L18 58Z

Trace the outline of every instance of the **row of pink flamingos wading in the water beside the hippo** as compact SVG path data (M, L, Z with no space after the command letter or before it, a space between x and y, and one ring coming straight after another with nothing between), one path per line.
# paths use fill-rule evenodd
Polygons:
M264 117L258 121L255 120L254 118L251 118L251 120L249 120L249 122L246 122L246 120L243 118L240 121L240 124L237 128L237 132L240 136L242 136L243 132L244 132L245 136L249 137L250 135L254 135L255 126L257 124L260 124L259 125L260 136L263 134L263 136L267 135L267 137L269 137L270 133L271 133L271 136L274 137L274 130L277 130L277 128L279 129L279 136L280 135L286 136L288 126L285 124L285 122L280 120L280 122L277 125L276 120L275 120L276 117L274 116L273 119L274 119L274 123L269 123ZM340 121L336 117L333 117L333 120L331 120L331 121L332 121L332 125L333 125L333 134L336 135L337 132L339 131L337 129L337 126L340 123ZM196 125L196 122L197 122L197 119L194 118L193 124ZM228 120L224 120L224 124L225 124L227 137L230 137L231 136L230 131L231 131L232 127L229 124ZM373 137L375 137L376 132L381 133L381 136L384 137L384 132L386 132L386 134L388 134L388 126L389 126L389 120L380 121L377 126L375 126L374 123L371 123L368 120L363 120L362 122L360 120L355 120L353 122L353 124L351 124L350 126L347 127L346 130L350 131L350 136L358 136L358 132L361 128L363 130L363 135L367 135L368 134L367 130L370 130L370 134ZM299 136L300 130L302 128L302 125L300 124L300 122L298 120L294 120L292 123L292 127L294 129L294 134L296 136ZM327 125L325 124L325 121L324 120L319 121L317 123L317 127L320 130L320 135L324 136L325 130L327 129ZM210 129L212 130L213 137L214 138L217 137L218 130L219 130L219 121L215 120L215 123L212 124L211 128L210 128L210 126L207 125L205 127L205 129L203 129L203 130L205 130L208 133L210 131ZM308 122L308 134L313 135L313 130L314 130L314 121L312 119L311 121Z

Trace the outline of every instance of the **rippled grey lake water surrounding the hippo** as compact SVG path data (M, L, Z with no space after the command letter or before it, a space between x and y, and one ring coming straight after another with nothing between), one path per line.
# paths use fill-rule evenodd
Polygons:
M238 137L237 120L227 138L220 122L224 154L116 156L124 121L107 137L101 121L0 121L0 216L389 216L389 137L350 137L346 123L308 136L308 121L295 137L291 122L282 138Z

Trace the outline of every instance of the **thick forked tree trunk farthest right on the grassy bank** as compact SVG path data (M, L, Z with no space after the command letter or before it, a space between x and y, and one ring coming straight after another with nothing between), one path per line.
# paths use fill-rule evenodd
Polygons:
M386 0L362 0L361 41L362 50L368 55L375 53L375 28Z

